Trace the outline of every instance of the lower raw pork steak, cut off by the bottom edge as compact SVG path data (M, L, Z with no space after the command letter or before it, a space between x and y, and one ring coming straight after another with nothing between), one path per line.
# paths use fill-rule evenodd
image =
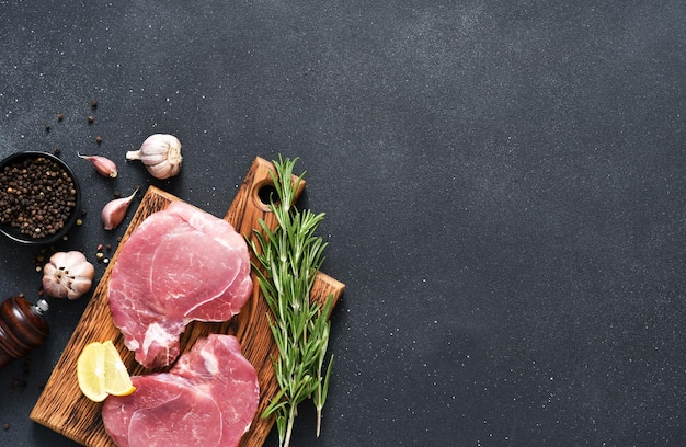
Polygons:
M231 335L201 339L169 373L132 380L133 394L110 396L102 409L118 447L236 446L260 401L258 375Z

